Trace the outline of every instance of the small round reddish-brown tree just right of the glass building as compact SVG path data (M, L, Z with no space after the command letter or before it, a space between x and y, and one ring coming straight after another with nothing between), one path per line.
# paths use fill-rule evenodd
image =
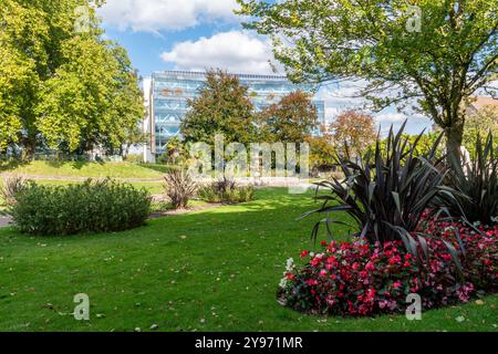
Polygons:
M330 125L338 153L361 156L375 142L374 118L353 110L342 112Z

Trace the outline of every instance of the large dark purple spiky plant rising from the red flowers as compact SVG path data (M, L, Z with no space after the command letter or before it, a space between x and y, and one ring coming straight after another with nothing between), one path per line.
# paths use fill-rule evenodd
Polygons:
M315 198L323 205L303 216L326 215L314 226L313 238L317 238L321 223L325 223L331 233L330 225L334 222L331 212L345 211L360 229L354 236L365 238L371 244L403 240L406 248L415 252L412 232L427 209L435 210L437 197L450 192L443 185L444 173L436 168L439 162L435 160L435 152L440 138L430 152L417 156L423 135L408 144L407 137L403 136L405 124L396 135L391 128L385 149L377 139L373 155L369 150L357 163L338 157L344 179L332 177L332 180L317 184ZM330 195L318 196L319 188L329 189Z

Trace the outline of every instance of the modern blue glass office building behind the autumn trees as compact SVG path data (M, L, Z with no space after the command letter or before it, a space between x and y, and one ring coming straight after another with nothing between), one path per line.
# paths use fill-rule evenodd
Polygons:
M249 95L257 110L261 110L280 97L301 90L312 92L312 85L294 85L286 76L231 74L249 87ZM179 126L187 112L187 101L199 93L206 82L205 73L187 71L155 72L152 80L144 85L147 115L144 132L149 137L145 159L153 162L155 156L165 150L169 138L179 136ZM313 101L320 122L324 122L323 101Z

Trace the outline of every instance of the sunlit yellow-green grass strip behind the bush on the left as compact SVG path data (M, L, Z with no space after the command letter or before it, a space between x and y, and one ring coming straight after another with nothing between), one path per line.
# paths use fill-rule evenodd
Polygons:
M152 179L162 178L167 166L132 163L51 163L32 162L20 165L2 165L0 171L52 177L112 177Z

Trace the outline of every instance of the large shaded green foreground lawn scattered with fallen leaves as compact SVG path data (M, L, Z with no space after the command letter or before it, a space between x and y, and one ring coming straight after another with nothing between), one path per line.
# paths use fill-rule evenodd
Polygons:
M309 197L258 190L252 202L121 233L33 238L0 229L0 331L498 331L498 295L415 322L279 305L286 260L310 247L313 220L295 221L313 207ZM69 314L76 293L90 295L89 322Z

